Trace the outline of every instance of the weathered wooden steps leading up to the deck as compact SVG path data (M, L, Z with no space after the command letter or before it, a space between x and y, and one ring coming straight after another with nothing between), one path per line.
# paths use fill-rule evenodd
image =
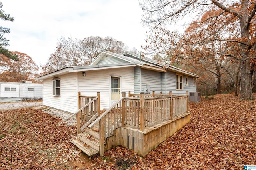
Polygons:
M86 127L84 132L78 134L78 138L71 141L76 147L82 150L89 157L99 154L100 150L100 133L98 125L89 129Z

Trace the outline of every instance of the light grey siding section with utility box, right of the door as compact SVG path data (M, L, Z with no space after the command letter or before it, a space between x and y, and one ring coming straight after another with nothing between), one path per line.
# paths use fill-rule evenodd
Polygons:
M155 91L156 94L161 92L161 72L141 69L141 92L150 85L150 94Z

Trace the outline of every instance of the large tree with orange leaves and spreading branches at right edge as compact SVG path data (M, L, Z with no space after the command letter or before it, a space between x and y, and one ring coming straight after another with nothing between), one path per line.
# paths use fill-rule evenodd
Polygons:
M219 55L232 57L241 62L241 100L251 100L252 96L252 79L250 72L250 61L256 56L252 55L252 47L255 45L255 12L256 2L253 0L143 0L140 6L144 10L142 22L152 29L149 37L152 40L160 39L166 47L176 44L182 36L177 31L170 31L170 25L184 19L189 15L200 20L205 11L216 11L213 15L204 18L208 21L211 18L226 18L226 22L222 22L222 30L227 29L227 24L239 25L239 36L237 37L216 37L209 33L203 41L223 41L226 43L236 43L233 51L223 51ZM211 25L209 25L211 26ZM206 29L206 27L204 28ZM203 33L204 29L198 30ZM168 33L168 34L167 34ZM153 41L154 42L154 41ZM192 42L198 45L202 41ZM161 52L161 49L159 50ZM167 51L168 53L168 51Z

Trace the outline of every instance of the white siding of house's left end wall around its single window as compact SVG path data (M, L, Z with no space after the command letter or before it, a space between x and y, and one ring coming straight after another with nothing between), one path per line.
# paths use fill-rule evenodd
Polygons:
M70 113L75 113L78 110L78 89L77 89L77 74L70 73L60 78L60 94L61 96L52 96L52 78L44 80L43 104L64 110ZM82 76L82 73L81 73ZM94 95L95 96L95 95Z

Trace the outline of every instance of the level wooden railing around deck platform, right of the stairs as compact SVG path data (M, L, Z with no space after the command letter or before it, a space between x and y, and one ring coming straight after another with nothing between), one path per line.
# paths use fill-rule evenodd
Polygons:
M165 120L173 120L188 113L188 92L186 95L177 96L172 96L172 92L168 95L130 94L129 92L129 98L124 98L124 108L124 124L144 131L145 127Z

